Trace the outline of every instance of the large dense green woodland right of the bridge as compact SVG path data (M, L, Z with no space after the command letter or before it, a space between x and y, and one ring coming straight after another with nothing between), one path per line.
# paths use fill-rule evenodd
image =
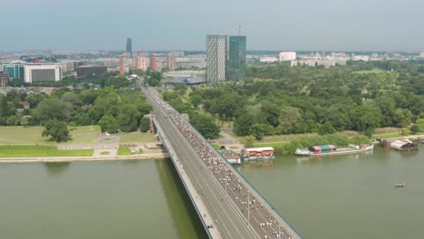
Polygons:
M410 127L424 118L422 62L248 66L248 80L164 93L178 110L234 121L238 136ZM377 69L386 71L356 72ZM393 71L391 71L393 69Z

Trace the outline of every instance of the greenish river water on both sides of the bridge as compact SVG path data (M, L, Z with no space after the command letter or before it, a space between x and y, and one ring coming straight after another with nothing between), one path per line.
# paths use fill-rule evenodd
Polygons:
M237 168L305 238L424 235L422 148ZM0 192L1 238L206 237L169 160L2 164Z

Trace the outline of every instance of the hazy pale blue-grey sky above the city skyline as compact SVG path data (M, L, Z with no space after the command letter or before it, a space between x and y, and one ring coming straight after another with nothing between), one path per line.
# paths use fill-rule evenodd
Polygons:
M205 50L207 33L247 50L424 51L422 0L2 1L0 51Z

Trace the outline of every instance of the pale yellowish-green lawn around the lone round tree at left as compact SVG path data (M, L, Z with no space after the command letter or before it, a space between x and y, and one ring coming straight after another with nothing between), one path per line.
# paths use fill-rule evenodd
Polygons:
M99 126L78 126L69 127L71 140L61 144L92 144L96 142L101 132ZM72 130L71 130L72 129ZM48 138L42 137L44 127L42 126L2 126L0 127L0 145L1 144L45 144L56 142L48 141Z

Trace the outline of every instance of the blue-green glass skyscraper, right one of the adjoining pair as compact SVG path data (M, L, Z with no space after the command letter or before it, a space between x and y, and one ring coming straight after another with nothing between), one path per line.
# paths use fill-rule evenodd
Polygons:
M246 36L229 36L228 80L246 79Z

